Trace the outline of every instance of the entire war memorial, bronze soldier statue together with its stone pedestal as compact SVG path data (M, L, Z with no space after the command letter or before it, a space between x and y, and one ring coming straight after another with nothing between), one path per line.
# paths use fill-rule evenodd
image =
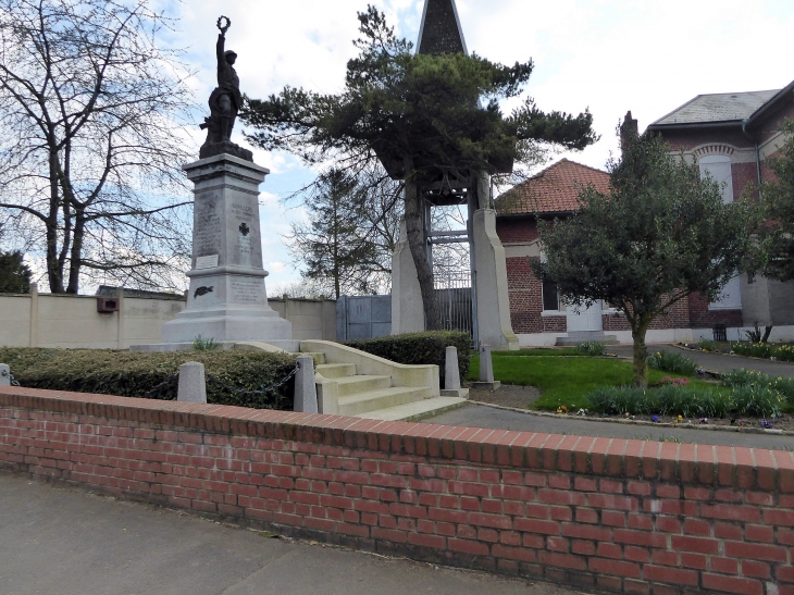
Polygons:
M231 140L241 95L234 69L237 54L225 49L229 26L228 18L219 18L218 87L210 96L210 116L201 125L207 129L201 159L184 165L195 185L187 307L163 325L163 344L146 346L149 349L189 348L201 336L298 350L291 324L268 305L258 198L270 171Z

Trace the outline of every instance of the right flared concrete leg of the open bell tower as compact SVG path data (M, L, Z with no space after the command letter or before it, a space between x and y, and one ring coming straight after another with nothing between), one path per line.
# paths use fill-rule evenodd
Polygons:
M496 350L519 349L519 338L510 322L507 260L501 240L496 235L496 211L474 211L472 238L480 344Z

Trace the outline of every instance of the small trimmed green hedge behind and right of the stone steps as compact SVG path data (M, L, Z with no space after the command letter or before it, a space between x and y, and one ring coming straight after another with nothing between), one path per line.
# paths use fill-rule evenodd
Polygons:
M458 370L460 380L469 375L471 358L471 335L458 331L429 331L426 333L408 333L389 337L348 340L348 347L379 356L397 363L426 364L434 363L441 370L444 386L444 365L448 346L458 348Z

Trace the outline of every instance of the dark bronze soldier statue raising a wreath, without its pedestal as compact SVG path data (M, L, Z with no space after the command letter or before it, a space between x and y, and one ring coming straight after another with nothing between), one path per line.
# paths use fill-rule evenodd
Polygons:
M206 159L215 154L229 153L252 161L251 151L232 142L232 131L243 103L243 95L240 94L240 79L237 71L234 70L237 53L225 49L226 32L231 26L232 21L228 17L221 16L218 20L218 28L221 32L215 46L218 87L210 95L210 116L204 117L204 123L201 124L201 128L207 129L207 140L202 145L199 156L201 159Z

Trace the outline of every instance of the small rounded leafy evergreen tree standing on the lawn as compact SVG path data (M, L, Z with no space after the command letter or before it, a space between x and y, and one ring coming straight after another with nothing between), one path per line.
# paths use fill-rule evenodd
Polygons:
M633 384L647 386L650 323L693 293L719 296L754 251L758 213L750 202L723 204L719 186L660 137L628 134L621 144L622 159L608 164L609 193L583 188L573 216L541 222L546 261L532 265L568 303L604 300L623 312Z

